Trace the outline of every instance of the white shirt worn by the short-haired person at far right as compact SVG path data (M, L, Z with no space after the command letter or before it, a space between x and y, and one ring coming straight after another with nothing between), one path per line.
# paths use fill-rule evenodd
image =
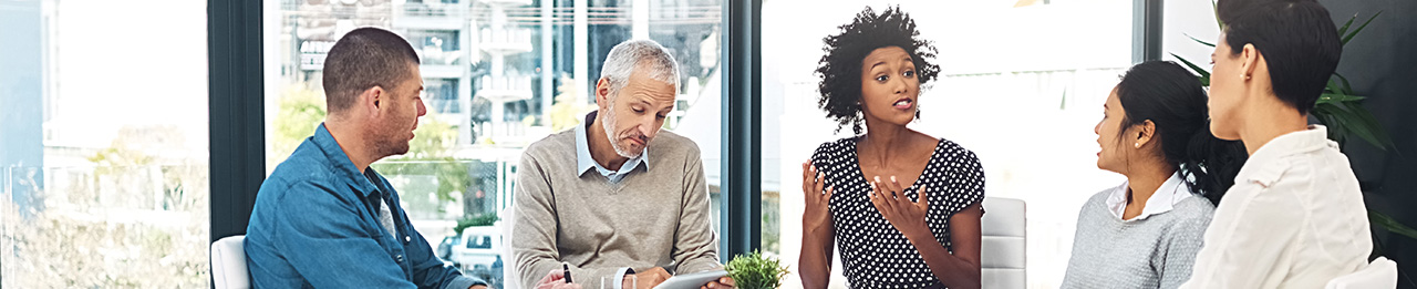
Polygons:
M1265 143L1216 208L1182 288L1323 288L1373 249L1357 178L1323 126Z

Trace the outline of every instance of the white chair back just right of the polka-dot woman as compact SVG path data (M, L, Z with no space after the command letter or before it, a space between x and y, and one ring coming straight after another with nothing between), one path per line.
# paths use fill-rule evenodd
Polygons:
M981 283L989 289L1027 286L1027 217L1023 200L985 197L983 210L983 220L979 221L983 235L983 244L979 245Z

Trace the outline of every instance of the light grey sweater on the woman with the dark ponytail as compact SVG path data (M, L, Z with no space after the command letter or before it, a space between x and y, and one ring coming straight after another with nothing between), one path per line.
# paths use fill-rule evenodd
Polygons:
M1061 288L1178 288L1190 279L1214 205L1192 196L1170 211L1122 221L1107 208L1110 193L1093 196L1078 212Z

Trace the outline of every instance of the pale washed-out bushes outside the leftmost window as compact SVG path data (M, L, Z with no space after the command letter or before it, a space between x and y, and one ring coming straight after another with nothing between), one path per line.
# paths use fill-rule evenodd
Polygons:
M176 126L125 126L94 166L11 171L0 193L24 191L43 205L0 201L4 285L14 288L205 288L208 196L205 160L164 156L183 149Z

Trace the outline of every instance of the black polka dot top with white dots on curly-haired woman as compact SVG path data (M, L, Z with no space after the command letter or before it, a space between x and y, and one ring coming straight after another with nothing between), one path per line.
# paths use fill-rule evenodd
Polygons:
M856 156L857 140L849 137L823 143L812 154L812 164L826 174L826 186L836 187L828 208L846 266L846 280L850 288L944 288L921 259L920 251L867 198L871 188ZM928 162L920 178L905 188L905 196L917 201L915 190L928 184L931 198L925 222L935 239L954 252L949 217L983 200L983 169L973 152L944 139Z

